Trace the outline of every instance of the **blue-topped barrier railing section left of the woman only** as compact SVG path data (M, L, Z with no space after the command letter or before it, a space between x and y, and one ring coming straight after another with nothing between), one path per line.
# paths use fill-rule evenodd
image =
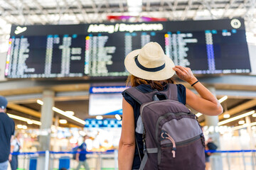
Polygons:
M73 154L76 153L84 152L43 151L18 153L18 169L76 169L78 162L73 159ZM89 164L90 169L93 170L117 170L117 150L108 150L107 152L87 152L87 163Z

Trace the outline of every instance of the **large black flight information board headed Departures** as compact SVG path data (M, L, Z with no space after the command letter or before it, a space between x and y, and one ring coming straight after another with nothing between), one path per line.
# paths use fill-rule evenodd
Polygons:
M242 19L12 26L7 78L124 77L124 57L159 42L195 74L250 73Z

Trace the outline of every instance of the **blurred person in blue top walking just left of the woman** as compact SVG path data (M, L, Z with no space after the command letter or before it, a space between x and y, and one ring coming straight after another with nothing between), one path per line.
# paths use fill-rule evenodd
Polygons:
M85 170L89 170L89 165L86 162L86 152L87 152L87 147L86 147L86 143L85 140L89 139L89 137L87 135L84 136L83 138L83 142L80 145L80 147L78 147L78 152L80 152L80 154L76 155L76 160L79 162L77 170L80 169L80 166L83 165L85 166Z

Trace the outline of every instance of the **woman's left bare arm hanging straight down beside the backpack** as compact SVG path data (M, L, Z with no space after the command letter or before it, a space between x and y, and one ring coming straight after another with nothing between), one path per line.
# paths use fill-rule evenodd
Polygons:
M119 141L118 167L120 170L131 170L135 152L134 111L124 98L122 108L122 133Z

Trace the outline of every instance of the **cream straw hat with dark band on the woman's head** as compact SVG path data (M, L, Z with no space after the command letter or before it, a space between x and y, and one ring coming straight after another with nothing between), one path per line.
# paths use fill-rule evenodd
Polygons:
M125 57L127 71L147 80L165 80L174 75L175 65L157 42L149 42L142 49L134 50Z

